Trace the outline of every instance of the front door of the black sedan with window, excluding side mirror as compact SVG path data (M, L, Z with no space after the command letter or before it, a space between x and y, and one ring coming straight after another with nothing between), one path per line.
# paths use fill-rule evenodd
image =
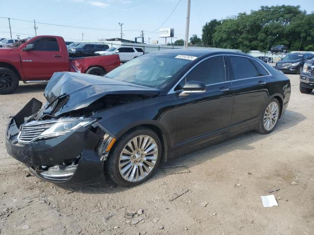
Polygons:
M179 96L188 81L203 82L205 93ZM194 146L228 133L234 103L232 84L226 77L223 56L213 56L194 66L176 90L176 142Z

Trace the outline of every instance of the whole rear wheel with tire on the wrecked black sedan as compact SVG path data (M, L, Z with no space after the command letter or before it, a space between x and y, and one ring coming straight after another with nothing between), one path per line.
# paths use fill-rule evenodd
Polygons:
M270 107L273 107L273 106L271 106L271 104L275 105L275 103L277 105L277 109L276 109L276 112L273 112L275 110L271 110ZM278 124L278 120L279 120L279 117L280 117L280 110L281 110L281 107L280 107L280 103L279 103L278 99L272 98L267 103L266 107L264 108L264 110L263 110L263 112L261 114L261 119L260 119L259 128L257 129L257 132L259 132L261 134L269 134L269 133L271 133L275 129L277 124ZM270 114L269 114L269 111L271 111ZM267 115L267 113L269 115ZM265 119L265 118L267 118L267 119ZM267 125L267 123L269 123L269 126Z

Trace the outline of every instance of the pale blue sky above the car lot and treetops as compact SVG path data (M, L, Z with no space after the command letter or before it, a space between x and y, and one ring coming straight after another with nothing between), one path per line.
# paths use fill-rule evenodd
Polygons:
M313 3L313 0L191 0L189 37L193 34L201 37L202 26L212 19L249 13L261 5L300 5L311 13ZM84 41L96 42L120 37L118 23L123 23L123 38L134 40L143 30L145 43L150 38L150 42L158 40L160 44L164 39L158 37L159 28L174 28L173 41L184 39L186 9L187 0L0 0L0 17L5 18L0 18L0 38L10 37L7 18L13 18L12 38L34 36L35 20L37 35L81 41L83 34Z

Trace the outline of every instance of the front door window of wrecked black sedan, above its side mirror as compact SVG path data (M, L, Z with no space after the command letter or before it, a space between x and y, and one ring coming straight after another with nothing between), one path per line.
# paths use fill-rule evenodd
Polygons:
M209 58L197 65L186 76L187 81L199 81L210 85L226 81L225 63L222 56Z

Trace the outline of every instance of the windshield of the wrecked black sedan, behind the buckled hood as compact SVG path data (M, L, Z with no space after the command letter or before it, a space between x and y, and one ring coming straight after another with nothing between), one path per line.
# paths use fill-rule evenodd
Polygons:
M106 77L141 86L162 89L175 78L191 60L175 58L173 54L147 54L106 74Z

